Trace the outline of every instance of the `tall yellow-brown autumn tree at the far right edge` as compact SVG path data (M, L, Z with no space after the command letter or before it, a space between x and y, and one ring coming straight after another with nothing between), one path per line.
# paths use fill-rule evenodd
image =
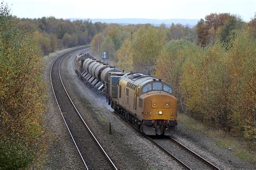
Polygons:
M255 141L256 40L250 28L231 39L225 66L228 80L227 105L231 131Z

